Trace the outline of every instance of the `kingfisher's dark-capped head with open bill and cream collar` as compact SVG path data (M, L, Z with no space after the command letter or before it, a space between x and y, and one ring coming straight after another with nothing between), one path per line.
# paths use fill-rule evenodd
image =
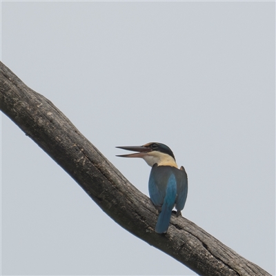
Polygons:
M122 148L123 150L136 151L129 155L117 155L118 157L139 157L143 158L148 166L172 166L177 168L175 162L175 155L172 150L161 143L148 143L143 146L117 146L116 148Z

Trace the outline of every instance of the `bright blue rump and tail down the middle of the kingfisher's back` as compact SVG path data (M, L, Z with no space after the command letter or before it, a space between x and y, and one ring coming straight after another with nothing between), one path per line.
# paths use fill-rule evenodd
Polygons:
M177 197L177 183L175 175L171 175L168 180L168 186L166 188L166 196L161 208L161 213L157 219L155 226L156 233L166 233L168 226L170 225L170 215L172 214L172 208L175 206L175 198Z

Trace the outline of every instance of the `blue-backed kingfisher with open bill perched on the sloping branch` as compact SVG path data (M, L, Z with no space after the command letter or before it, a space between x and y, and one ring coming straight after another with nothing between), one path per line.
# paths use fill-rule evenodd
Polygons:
M148 192L152 204L159 213L155 232L166 233L170 225L172 209L177 217L183 210L188 193L188 177L183 166L177 167L172 150L161 143L148 143L143 146L117 146L123 150L136 151L118 157L139 157L152 167L148 181Z

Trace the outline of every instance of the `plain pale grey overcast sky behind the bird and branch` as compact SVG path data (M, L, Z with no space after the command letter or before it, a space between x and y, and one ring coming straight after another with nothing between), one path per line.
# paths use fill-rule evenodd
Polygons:
M115 146L172 149L182 215L275 275L274 2L1 2L1 60L142 193ZM121 228L1 115L3 275L195 275Z

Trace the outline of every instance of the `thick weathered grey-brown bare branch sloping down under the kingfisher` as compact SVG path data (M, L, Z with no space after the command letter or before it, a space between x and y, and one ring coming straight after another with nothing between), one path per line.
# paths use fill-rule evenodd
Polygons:
M121 175L48 99L1 63L1 110L77 181L99 207L133 235L199 275L270 275L184 217L172 215L166 235L155 233L150 199Z

